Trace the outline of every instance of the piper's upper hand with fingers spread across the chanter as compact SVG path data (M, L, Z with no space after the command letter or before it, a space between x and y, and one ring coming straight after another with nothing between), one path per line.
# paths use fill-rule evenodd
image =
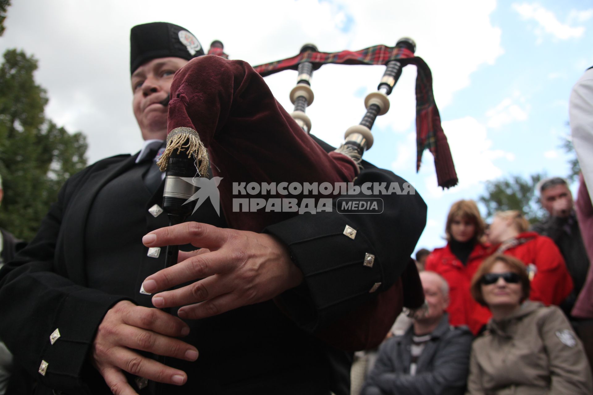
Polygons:
M259 303L278 296L302 281L286 247L273 236L187 222L154 230L144 236L148 247L191 243L204 251L184 253L177 265L144 280L148 293L167 290L188 281L186 287L160 292L154 306L184 306L183 319L200 319Z

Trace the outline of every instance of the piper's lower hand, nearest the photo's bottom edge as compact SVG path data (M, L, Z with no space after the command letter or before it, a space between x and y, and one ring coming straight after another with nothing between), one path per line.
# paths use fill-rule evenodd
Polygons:
M195 361L197 350L174 339L186 336L189 327L157 309L136 306L124 300L111 307L98 327L91 362L115 395L138 395L127 383L122 370L161 383L181 386L187 375L132 351L138 349L165 357Z

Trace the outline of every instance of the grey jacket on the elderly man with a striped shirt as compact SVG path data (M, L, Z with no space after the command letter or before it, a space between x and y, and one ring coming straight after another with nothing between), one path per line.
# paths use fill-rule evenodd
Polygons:
M463 394L473 335L466 326L449 326L445 313L420 355L416 375L410 375L414 327L382 343L375 367L361 395Z

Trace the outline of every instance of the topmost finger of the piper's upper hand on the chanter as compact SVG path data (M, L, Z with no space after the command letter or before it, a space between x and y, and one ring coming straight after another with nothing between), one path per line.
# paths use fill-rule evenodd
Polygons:
M235 231L200 222L184 222L174 226L161 227L142 237L147 247L180 246L192 244L196 247L216 249L222 246Z

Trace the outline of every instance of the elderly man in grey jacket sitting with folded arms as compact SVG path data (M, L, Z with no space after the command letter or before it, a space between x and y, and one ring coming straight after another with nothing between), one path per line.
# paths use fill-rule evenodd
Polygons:
M421 272L420 280L428 313L381 345L362 395L463 394L473 335L449 325L447 281L431 271Z

